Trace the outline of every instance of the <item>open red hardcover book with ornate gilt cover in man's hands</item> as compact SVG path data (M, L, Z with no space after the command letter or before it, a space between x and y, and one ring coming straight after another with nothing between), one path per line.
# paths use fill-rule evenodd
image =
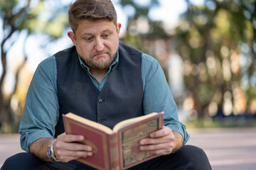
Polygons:
M123 120L113 130L73 113L63 115L66 134L83 135L82 143L92 147L92 156L78 162L100 170L122 170L159 155L139 149L139 141L163 128L164 113L150 113Z

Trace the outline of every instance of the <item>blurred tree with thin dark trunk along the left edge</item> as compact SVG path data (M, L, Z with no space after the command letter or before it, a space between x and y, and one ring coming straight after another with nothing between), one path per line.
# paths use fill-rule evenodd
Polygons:
M53 4L55 3L55 5ZM51 5L50 5L51 3ZM68 26L68 16L65 10L67 6L60 6L61 1L47 0L0 0L1 30L3 31L1 43L1 78L0 78L0 132L16 131L17 123L11 123L11 98L16 93L18 77L21 69L26 64L25 51L26 39L23 42L24 50L20 57L23 62L18 64L15 72L14 89L11 94L4 93L4 81L8 72L7 55L21 33L26 37L35 33L48 35L48 40L60 38L63 30ZM48 12L50 10L50 15ZM11 64L11 63L9 63Z

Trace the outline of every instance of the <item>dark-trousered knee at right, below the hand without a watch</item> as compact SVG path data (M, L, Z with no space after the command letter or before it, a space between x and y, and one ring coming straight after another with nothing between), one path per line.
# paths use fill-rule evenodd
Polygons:
M211 169L206 153L199 147L184 145L178 154L186 162L187 169Z

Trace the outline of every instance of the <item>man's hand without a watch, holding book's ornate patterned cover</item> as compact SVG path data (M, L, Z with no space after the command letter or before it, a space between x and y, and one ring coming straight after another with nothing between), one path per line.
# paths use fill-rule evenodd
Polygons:
M152 132L150 138L141 140L141 150L148 150L154 154L171 154L180 149L183 145L183 137L179 132L164 126L161 130Z

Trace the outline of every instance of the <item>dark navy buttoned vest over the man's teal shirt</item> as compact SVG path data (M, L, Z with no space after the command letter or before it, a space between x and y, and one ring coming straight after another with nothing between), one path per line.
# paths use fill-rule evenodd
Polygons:
M143 115L142 52L119 43L119 63L102 90L80 65L75 46L55 54L60 119L55 136L64 132L62 114L69 112L113 128Z

